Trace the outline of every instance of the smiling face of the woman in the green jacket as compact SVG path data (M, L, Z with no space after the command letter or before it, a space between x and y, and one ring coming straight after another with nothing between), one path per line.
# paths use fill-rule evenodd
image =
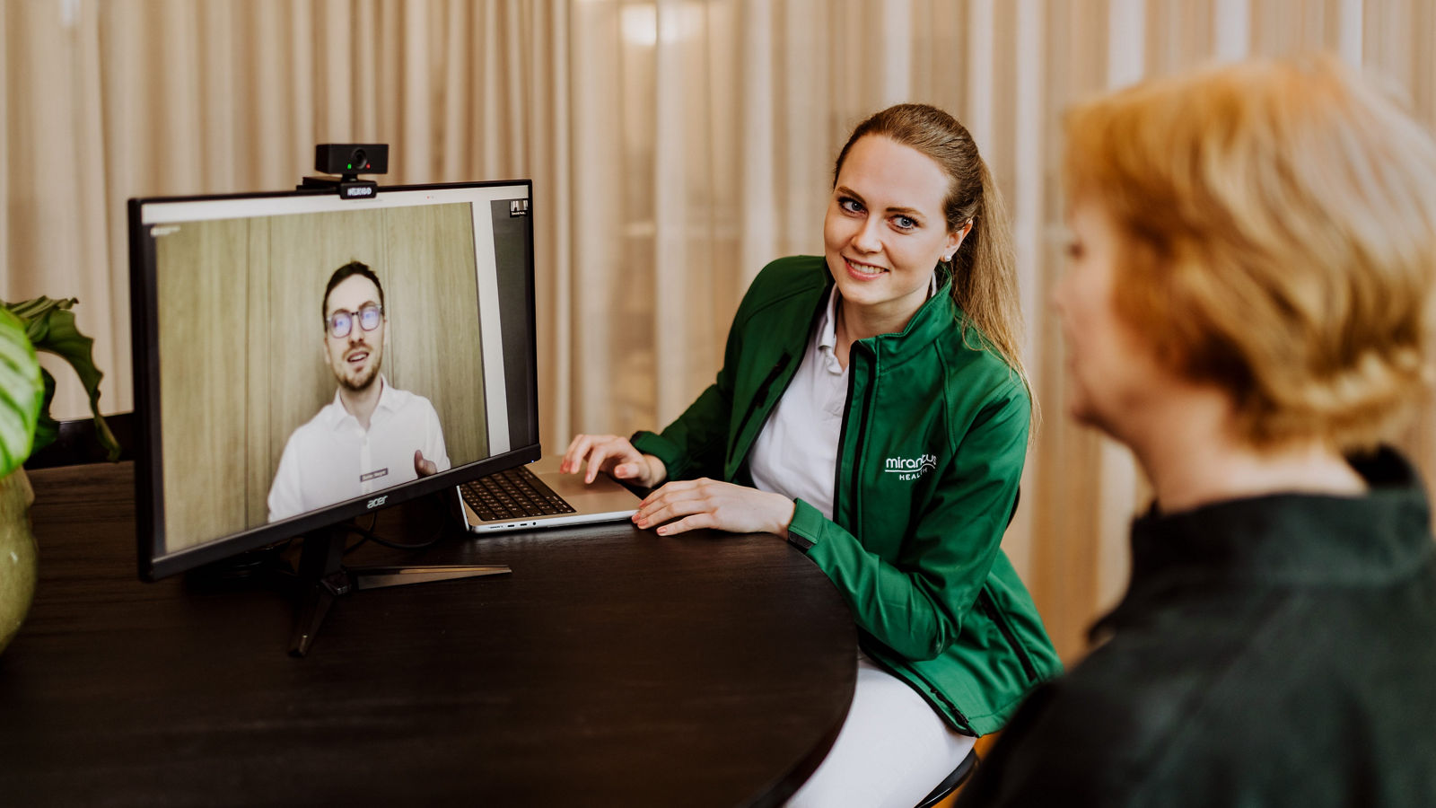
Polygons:
M847 151L823 221L827 267L844 305L906 322L932 272L956 252L942 203L948 175L920 151L864 135Z

